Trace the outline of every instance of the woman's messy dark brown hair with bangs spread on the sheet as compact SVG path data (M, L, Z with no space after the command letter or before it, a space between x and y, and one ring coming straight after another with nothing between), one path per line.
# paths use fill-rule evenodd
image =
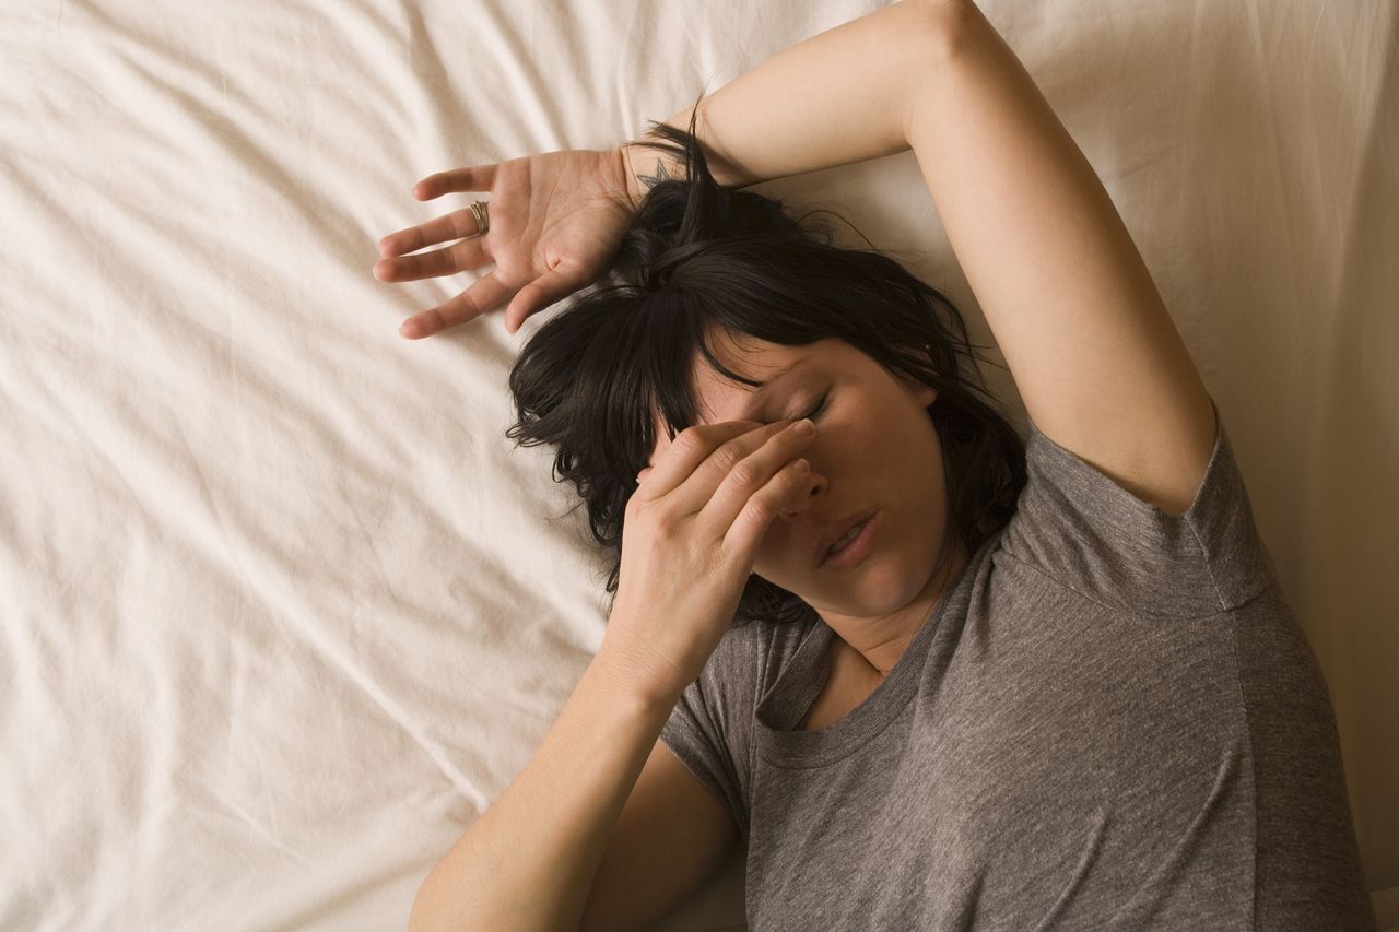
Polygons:
M949 540L956 533L975 553L1016 511L1025 445L983 385L961 313L873 248L832 246L828 227L806 223L811 214L799 223L779 200L720 188L694 127L694 118L688 132L652 122L641 144L683 157L684 179L651 188L610 271L539 327L509 375L516 423L506 437L555 449L554 480L574 484L610 556L609 595L656 411L672 439L697 423L695 354L729 379L758 385L719 362L705 343L709 326L783 346L835 337L936 388L928 413L943 449ZM734 624L810 612L754 574Z

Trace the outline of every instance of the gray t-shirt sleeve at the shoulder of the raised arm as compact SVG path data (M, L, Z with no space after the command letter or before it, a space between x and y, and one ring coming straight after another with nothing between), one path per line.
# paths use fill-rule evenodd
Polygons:
M1276 578L1219 406L1195 501L1170 515L1045 437L1030 421L1025 487L1002 550L1062 586L1140 616L1235 609Z

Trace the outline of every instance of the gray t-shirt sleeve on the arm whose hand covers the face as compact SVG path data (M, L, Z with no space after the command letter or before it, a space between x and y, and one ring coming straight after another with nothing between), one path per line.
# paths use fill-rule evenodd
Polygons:
M686 770L729 806L744 842L760 649L757 623L726 631L660 730L660 740Z

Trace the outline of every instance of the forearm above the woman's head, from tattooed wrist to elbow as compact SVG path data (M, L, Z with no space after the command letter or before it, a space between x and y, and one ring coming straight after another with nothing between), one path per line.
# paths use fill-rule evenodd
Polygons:
M951 0L904 0L786 49L700 102L695 136L725 188L879 158L909 148L914 90L949 50ZM688 129L694 108L666 120ZM667 154L623 146L632 196Z

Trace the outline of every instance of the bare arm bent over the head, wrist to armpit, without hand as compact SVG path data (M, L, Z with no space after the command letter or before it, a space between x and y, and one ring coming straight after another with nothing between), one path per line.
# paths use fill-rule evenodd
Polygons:
M726 186L912 147L1039 430L1186 511L1216 439L1209 393L1102 183L971 0L904 0L813 36L705 98L695 134ZM676 174L623 151L632 193Z

